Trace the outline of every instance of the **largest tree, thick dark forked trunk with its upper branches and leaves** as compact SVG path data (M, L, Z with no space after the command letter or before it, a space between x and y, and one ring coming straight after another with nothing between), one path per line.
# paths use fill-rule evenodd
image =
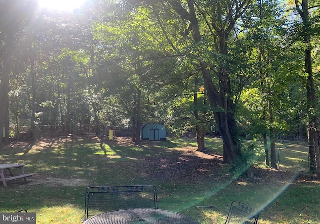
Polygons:
M197 61L202 73L208 101L213 108L223 139L224 161L234 162L236 157L241 157L241 150L235 121L238 91L232 89L232 79L236 76L230 74L228 44L230 37L235 36L234 28L238 19L246 12L251 1L166 0L164 2L154 3L152 7L158 14L160 11L163 14L165 10L171 8L175 12L171 18L180 23L180 25L174 24L175 30L180 29L181 39L184 36L194 43L188 56ZM164 18L161 19L162 24ZM170 38L169 28L163 25L161 27L173 50L181 52L180 44Z

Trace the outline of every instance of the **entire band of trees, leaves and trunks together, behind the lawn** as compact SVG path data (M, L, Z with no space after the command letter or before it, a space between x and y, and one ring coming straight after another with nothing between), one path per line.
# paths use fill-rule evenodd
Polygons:
M319 2L88 0L73 12L0 0L0 116L6 139L27 126L70 132L163 123L181 135L219 133L223 158L276 134L308 133L318 172ZM9 133L9 126L15 131ZM313 137L312 137L313 136ZM270 142L268 144L268 138Z

